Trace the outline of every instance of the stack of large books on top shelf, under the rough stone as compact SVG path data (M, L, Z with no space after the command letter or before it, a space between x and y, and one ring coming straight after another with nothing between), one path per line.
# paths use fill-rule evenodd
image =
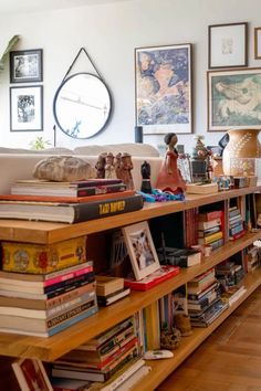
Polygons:
M0 219L79 223L142 208L143 197L126 190L121 179L24 180L11 187L11 194L0 194Z

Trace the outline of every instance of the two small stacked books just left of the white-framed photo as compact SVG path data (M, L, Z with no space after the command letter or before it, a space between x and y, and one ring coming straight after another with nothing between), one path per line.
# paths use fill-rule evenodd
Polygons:
M98 306L106 307L128 296L130 294L130 289L124 287L124 278L97 275L96 294Z

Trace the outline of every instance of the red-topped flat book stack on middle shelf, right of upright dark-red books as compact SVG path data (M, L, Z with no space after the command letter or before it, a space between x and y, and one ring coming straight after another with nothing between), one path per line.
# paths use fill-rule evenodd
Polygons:
M223 245L223 211L216 210L198 214L198 244L216 250Z

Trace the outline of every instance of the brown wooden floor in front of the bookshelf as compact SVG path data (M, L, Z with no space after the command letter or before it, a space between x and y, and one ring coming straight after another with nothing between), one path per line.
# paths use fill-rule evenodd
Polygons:
M259 287L157 391L261 391Z

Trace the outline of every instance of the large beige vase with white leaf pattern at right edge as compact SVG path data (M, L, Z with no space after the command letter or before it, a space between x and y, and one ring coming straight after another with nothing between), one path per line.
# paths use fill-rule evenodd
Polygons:
M255 159L261 157L260 129L230 129L229 142L222 156L223 173L227 176L254 175Z

